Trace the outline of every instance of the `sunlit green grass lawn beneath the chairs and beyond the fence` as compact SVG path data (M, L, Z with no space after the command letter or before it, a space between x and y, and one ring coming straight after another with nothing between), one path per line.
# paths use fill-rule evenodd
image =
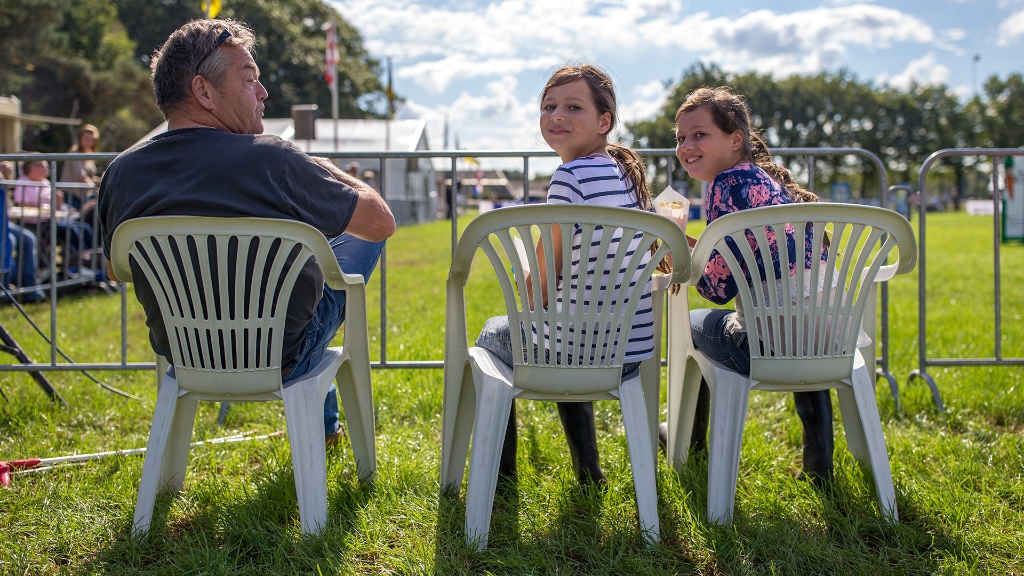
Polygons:
M929 216L929 355L992 356L991 223ZM696 232L696 231L694 231ZM401 229L388 247L388 358L443 355L446 222ZM467 291L469 330L499 314L485 259ZM1004 355L1024 356L1024 247L1002 249ZM379 326L375 279L371 334ZM185 490L158 500L144 539L129 536L141 456L15 476L0 490L0 573L332 574L931 574L1024 573L1024 386L1011 368L931 373L946 413L927 386L906 385L916 367L916 276L891 284L892 366L905 415L878 386L901 522L884 523L869 477L846 451L837 421L838 477L830 494L797 478L801 427L792 395L755 393L743 440L735 523L706 523L707 461L658 476L662 543L637 533L629 457L617 405L598 403L603 494L579 489L554 406L519 404L520 485L500 499L490 546L463 545L464 494L438 493L442 382L439 370L374 372L379 479L354 478L351 452L329 456L330 524L322 537L298 527L287 439L193 450ZM129 359L152 358L140 307L129 294ZM692 297L694 305L700 299ZM60 345L79 361L117 361L120 299L62 297ZM29 306L48 326L48 306ZM36 359L49 347L10 306L0 321ZM376 343L376 342L372 342ZM376 349L372 353L377 357ZM137 394L103 392L79 374L53 375L70 408L54 407L24 374L0 374L0 459L144 446L156 387L151 372L99 374ZM834 396L835 398L835 396ZM196 439L284 428L281 404L234 405L225 428L201 404ZM837 410L837 418L839 411Z

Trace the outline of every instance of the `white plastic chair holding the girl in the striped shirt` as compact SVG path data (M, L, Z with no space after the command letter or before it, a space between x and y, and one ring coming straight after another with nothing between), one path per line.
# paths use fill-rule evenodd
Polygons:
M562 243L554 246L551 230L559 224L562 227ZM554 265L549 265L547 295L550 305L547 308L537 305L531 310L528 299L520 297L517 287L526 286L524 270L538 270L537 253L524 250L528 261L521 261L513 235L529 239L528 244L532 245L534 231L538 232L544 242L545 261L554 262L554 250L560 250L564 274L567 275L572 261L574 225L582 230L582 246L590 246L592 241L599 243L600 255L596 261L605 261L606 255L613 258L609 270L624 271L622 278L635 279L636 288L625 292L623 297L618 297L614 290L595 290L586 307L558 306L554 304L557 271ZM599 227L603 227L603 233ZM630 242L611 242L614 236L611 231L618 231L623 239L631 239L637 233L642 235L636 243L635 255L627 255ZM640 256L645 251L649 253L655 239L662 240L662 244L651 256L650 263L641 268L643 258ZM531 326L538 327L539 331L548 326L553 336L557 333L564 340L560 354L550 349L551 354L545 355L541 349L535 358L532 353L525 352L532 348L531 345L524 346L520 338L513 337L515 366L509 369L492 353L467 345L464 288L477 248L483 249L497 273L513 331L517 326L525 326L527 333ZM640 529L646 539L658 539L654 452L660 376L658 355L655 353L654 358L641 365L637 371L639 374L635 372L625 381L622 380L622 367L627 335L640 302L642 287L651 279L657 262L670 251L676 261L681 262L676 266L672 281L683 282L689 274L689 259L686 238L679 227L664 216L625 208L580 205L503 208L477 217L466 228L447 279L441 488L457 492L462 485L472 436L473 451L466 494L466 541L469 545L482 548L487 542L502 442L515 398L549 402L617 399L630 446ZM511 274L509 263L513 269ZM597 268L603 270L600 264ZM668 280L668 276L665 278ZM567 278L563 283L566 281ZM542 289L539 275L534 274L530 282L540 304ZM662 288L667 285L667 281L663 282ZM566 299L573 296L568 293L567 286L564 290ZM580 297L582 299L583 295ZM660 346L659 317L660 305L655 310L654 332L658 337L655 351ZM564 330L571 328L575 331L577 327L584 326L588 327L587 334L575 340L570 337L569 330ZM615 337L616 331L622 331L622 337ZM539 336L538 339L539 347L544 348L544 337ZM605 354L595 354L591 358L594 342L611 343Z

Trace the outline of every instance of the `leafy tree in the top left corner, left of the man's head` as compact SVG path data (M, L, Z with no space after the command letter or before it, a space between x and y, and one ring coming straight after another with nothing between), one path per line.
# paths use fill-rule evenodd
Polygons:
M98 125L108 150L121 150L159 119L148 75L110 0L15 0L0 8L0 92L23 110ZM30 124L29 150L65 152L63 126Z

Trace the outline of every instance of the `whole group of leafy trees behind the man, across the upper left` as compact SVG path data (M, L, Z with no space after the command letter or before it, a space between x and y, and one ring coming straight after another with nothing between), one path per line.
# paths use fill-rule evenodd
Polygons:
M324 80L327 24L338 31L339 113L379 117L385 102L380 63L359 33L322 0L230 0L218 17L248 23L269 97L267 117L287 117L295 104L330 114ZM4 0L0 2L0 94L23 112L77 117L95 124L101 147L121 151L161 120L148 64L182 24L203 17L200 0ZM65 126L28 124L25 149L65 152Z

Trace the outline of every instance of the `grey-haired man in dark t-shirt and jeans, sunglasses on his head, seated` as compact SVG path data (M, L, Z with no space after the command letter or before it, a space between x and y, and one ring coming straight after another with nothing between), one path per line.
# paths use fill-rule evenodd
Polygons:
M282 218L319 230L331 239L341 269L367 279L384 240L394 234L394 216L373 189L329 160L259 135L267 93L252 57L254 42L245 25L201 19L176 30L154 54L154 92L167 132L125 151L103 174L98 195L103 252L110 258L114 231L131 218ZM141 273L133 276L150 341L170 358L153 289ZM344 292L325 287L318 266L308 262L288 305L282 357L286 387L319 362L344 320ZM333 386L324 420L333 443L341 435Z

